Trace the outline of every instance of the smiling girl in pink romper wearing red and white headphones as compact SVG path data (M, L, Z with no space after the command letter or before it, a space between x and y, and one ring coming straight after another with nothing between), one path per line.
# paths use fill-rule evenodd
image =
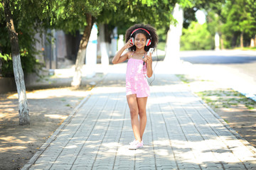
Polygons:
M114 56L112 63L127 62L126 89L127 102L131 115L132 130L135 140L130 142L129 149L143 147L142 136L146 128L146 101L149 96L149 84L146 80L151 77L152 57L147 54L149 48L156 48L158 36L156 30L144 24L130 27L125 34L126 44ZM124 52L128 48L128 52ZM139 115L139 118L138 118Z

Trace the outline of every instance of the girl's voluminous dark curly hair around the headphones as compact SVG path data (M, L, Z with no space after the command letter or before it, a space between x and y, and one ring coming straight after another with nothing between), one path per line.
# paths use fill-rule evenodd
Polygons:
M139 29L136 30L138 28L143 28L145 30ZM133 34L132 32L136 30ZM150 35L148 33L146 33L146 30L149 31ZM131 34L132 37L135 38L135 35L137 33L143 33L146 36L146 39L150 39L151 37L151 45L149 46L145 46L144 50L147 52L149 51L149 48L154 47L154 49L156 49L156 45L159 42L159 37L156 34L156 29L153 28L150 25L144 25L144 24L135 24L134 26L131 26L130 28L127 29L127 32L125 33L125 42L127 42L130 38L131 38ZM135 51L136 50L136 46L132 46L128 48L129 51Z

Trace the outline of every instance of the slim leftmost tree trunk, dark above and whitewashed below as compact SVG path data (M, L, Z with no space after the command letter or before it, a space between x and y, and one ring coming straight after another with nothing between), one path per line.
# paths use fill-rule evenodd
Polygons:
M14 28L14 21L11 15L9 0L2 1L4 6L4 14L6 17L6 24L9 30L9 36L11 39L11 57L14 65L14 78L18 91L18 113L19 113L19 125L29 125L29 111L28 100L26 98L26 86L24 82L23 70L21 67L21 57L18 47L18 34Z

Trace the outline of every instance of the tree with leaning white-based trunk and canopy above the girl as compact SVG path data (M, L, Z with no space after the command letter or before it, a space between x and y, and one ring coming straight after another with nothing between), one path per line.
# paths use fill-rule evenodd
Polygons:
M162 27L171 21L171 10L175 3L176 1L170 3L166 0L91 0L86 1L86 3L82 0L56 1L53 9L55 17L52 19L52 23L56 23L57 28L62 28L65 32L73 32L82 27L88 27L84 29L80 42L72 86L80 86L81 68L90 37L89 30L92 26L91 23L88 23L89 21L107 23L111 26L125 26L126 28L134 23L153 23L153 26ZM92 17L92 19L87 18L87 16Z

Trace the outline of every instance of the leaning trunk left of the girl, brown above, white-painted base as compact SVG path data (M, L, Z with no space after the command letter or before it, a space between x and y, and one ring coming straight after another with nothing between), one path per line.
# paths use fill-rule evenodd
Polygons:
M78 88L82 81L82 65L85 62L86 47L87 47L88 40L90 38L90 33L92 30L92 26L94 23L94 18L89 13L86 14L86 19L87 19L87 26L85 26L85 30L82 35L82 39L80 40L78 56L75 61L75 75L74 75L73 81L71 83L71 86L74 86L75 88Z

